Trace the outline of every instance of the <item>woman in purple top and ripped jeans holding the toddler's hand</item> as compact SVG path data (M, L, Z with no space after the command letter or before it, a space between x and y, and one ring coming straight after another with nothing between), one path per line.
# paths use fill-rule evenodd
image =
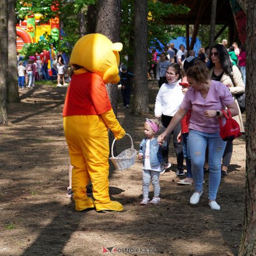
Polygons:
M192 110L189 121L189 147L192 162L192 174L195 192L190 204L197 204L203 194L205 149L209 147L209 207L220 210L216 203L218 185L221 180L221 158L226 142L220 137L218 118L223 117L221 109L228 108L232 116L238 114L238 108L229 89L218 81L209 79L206 65L199 61L187 71L187 80L191 86L185 94L180 109L172 118L167 129L158 137L163 140L174 130L189 109ZM225 119L222 119L225 122Z

